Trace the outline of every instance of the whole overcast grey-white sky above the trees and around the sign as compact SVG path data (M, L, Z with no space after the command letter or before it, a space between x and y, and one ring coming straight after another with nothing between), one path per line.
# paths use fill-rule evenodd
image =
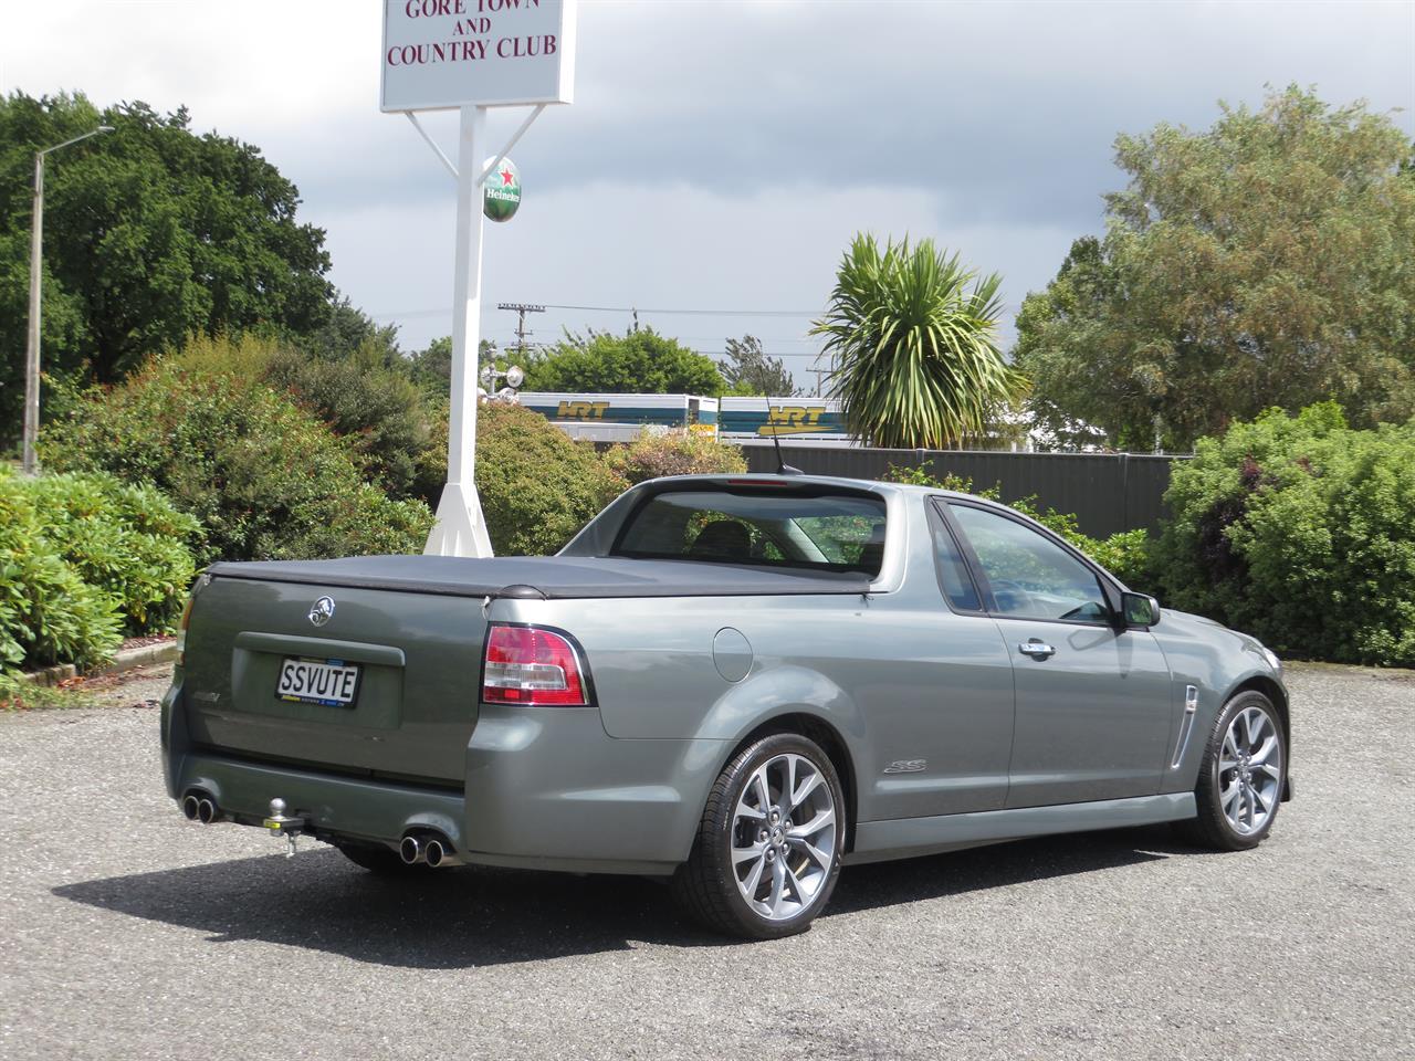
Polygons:
M454 187L379 113L379 45L376 0L0 3L3 91L185 105L256 144L327 231L334 283L415 349L450 331ZM1207 127L1218 99L1298 82L1404 109L1415 137L1412 0L583 0L577 66L576 102L512 153L525 198L487 226L484 334L511 337L498 301L614 310L549 311L543 340L638 307L709 354L750 331L802 386L856 231L1000 272L1010 341L1022 297L1101 232L1118 132ZM453 153L456 119L424 122Z

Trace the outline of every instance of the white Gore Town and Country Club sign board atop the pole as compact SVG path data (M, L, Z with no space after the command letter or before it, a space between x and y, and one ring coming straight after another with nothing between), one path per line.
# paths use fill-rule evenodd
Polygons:
M383 0L383 110L569 103L574 0Z

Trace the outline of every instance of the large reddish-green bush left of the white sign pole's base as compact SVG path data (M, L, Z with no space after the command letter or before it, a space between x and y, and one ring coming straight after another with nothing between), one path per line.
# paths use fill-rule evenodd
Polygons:
M419 552L427 506L366 485L350 443L272 389L260 364L249 342L194 340L75 403L45 429L41 457L156 485L201 521L200 562Z

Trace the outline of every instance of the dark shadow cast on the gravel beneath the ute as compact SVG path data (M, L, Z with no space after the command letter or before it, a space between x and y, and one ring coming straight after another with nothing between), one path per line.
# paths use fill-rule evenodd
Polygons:
M1044 837L925 859L848 867L829 918L1033 880L1095 873L1184 852L1167 830ZM65 884L55 895L209 934L361 962L464 969L631 949L730 946L689 924L668 890L638 877L487 867L416 880L378 877L318 846L279 854Z

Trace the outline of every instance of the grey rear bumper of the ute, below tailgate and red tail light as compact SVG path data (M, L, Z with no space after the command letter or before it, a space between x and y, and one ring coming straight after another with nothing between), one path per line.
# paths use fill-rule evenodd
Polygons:
M183 748L180 727L164 729L168 792L202 789L238 823L259 825L279 796L318 839L396 846L436 830L463 862L577 873L672 873L727 751L716 740L614 738L593 709L484 705L458 794L226 758Z

